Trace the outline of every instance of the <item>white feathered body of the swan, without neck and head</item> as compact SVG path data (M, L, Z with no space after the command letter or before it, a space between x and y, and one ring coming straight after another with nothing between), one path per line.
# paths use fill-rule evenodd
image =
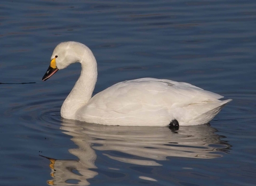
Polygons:
M185 82L154 78L123 81L99 92L76 119L107 125L166 126L209 122L230 100Z

